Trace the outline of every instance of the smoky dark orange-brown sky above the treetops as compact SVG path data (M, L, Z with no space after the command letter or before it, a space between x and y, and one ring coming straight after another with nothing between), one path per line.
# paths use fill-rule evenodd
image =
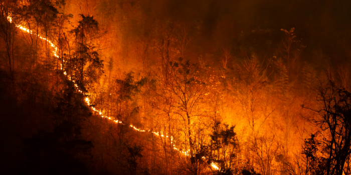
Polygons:
M276 46L284 35L280 29L295 27L306 46L304 60L333 64L351 57L349 0L75 0L67 1L65 8L75 17L95 16L102 27L127 23L115 28L127 30L130 37L148 35L157 22L177 21L193 28L192 44L202 53L215 52L223 42L230 43L232 50L238 50L235 45Z

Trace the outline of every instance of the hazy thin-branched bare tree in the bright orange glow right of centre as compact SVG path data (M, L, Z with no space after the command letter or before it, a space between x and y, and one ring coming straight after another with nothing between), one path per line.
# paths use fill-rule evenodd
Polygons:
M258 134L259 128L274 111L272 98L265 88L269 80L268 65L265 66L256 54L245 59L242 66L238 65L241 71L234 93L243 109L253 137Z

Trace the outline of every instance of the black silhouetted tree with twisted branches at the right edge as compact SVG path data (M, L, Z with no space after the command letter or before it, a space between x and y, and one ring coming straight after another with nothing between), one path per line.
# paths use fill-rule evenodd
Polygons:
M325 134L321 142L325 157L324 173L342 175L346 160L351 154L351 92L336 86L329 80L316 89L319 109L311 109L315 115L311 119Z

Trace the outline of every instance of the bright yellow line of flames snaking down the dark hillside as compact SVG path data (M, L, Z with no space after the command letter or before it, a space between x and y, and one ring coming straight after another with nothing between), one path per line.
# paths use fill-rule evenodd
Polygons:
M8 18L8 20L10 21L10 23L12 23L12 17L11 17L11 16L8 16L7 18ZM32 30L26 28L26 27L23 26L23 25L16 24L15 26L18 27L18 28L20 28L20 29L23 30L23 31L26 31L26 32L30 33L30 34L35 34L35 33L32 32ZM37 35L37 34L35 34L35 35ZM49 42L50 45L51 45L51 47L54 48L53 54L55 55L55 57L59 58L59 55L57 54L58 48L55 46L55 44L54 44L51 40L49 40L49 39L47 39L47 38L45 38L45 37L42 37L40 34L38 34L38 37L40 37L41 39L46 40L47 42ZM61 65L61 70L63 70L63 65L62 65L62 63L61 63L60 65ZM66 75L66 76L68 77L69 80L71 80L71 76L68 75L66 71L64 71L63 73L64 73L64 75ZM78 84L77 84L74 80L72 80L72 82L74 83L74 86L76 87L76 89L77 89L80 93L83 93L83 91L82 91L81 89L79 89ZM84 93L84 94L85 94L85 93ZM86 98L85 98L85 102L90 106L90 99L89 99L89 97L86 97ZM113 119L113 118L111 118L111 117L104 116L104 115L102 114L101 110L97 110L97 109L96 109L95 107L93 107L93 106L90 106L90 108L91 108L92 110L94 110L95 112L97 112L97 113L98 113L101 117L103 117L103 118L107 118L107 119L109 119L109 120L112 120L112 121L114 121L115 123L124 124L124 123L122 123L122 121L119 121L118 119ZM146 130L137 128L137 127L133 126L132 124L130 124L129 127L132 127L134 130L139 131L139 132L146 132ZM160 135L159 132L153 132L153 131L150 131L150 130L147 130L147 132L151 132L151 133L153 133L153 134L155 134L155 135L157 135L157 136ZM164 137L164 136L165 136L165 137L168 137L168 135L163 135L162 131L161 131L161 135L160 135L160 136L161 136L161 137ZM177 150L178 152L180 152L180 153L182 153L182 154L184 154L184 155L186 155L186 156L189 155L189 151L190 151L190 150L182 151L181 149L177 148L177 147L173 144L173 137L172 137L172 136L170 136L170 140L171 140L171 144L172 144L173 149ZM212 166L213 168L215 168L215 169L219 169L219 167L218 167L214 162L211 163L211 166Z

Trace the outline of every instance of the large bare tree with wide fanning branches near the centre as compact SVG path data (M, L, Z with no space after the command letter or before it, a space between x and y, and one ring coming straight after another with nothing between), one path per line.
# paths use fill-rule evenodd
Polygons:
M178 140L177 147L182 143L182 151L187 152L190 160L187 162L190 173L199 174L204 166L200 154L209 133L209 116L215 113L206 104L216 80L209 74L212 72L189 60L184 61L182 57L178 61L169 61L167 66L167 76L161 78L160 85L152 90L155 98L150 104L165 116L157 121L160 122L159 128L167 130L164 133ZM178 123L171 124L172 121ZM165 141L163 145L166 145ZM170 138L169 142L172 150Z

